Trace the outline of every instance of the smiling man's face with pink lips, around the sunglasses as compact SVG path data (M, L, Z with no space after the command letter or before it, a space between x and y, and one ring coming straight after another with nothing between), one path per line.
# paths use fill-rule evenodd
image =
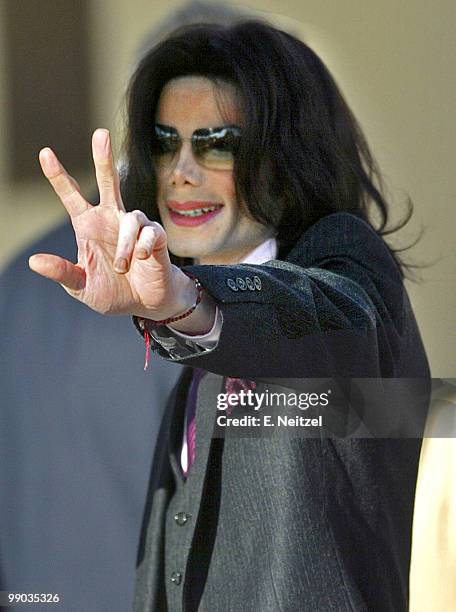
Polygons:
M273 235L237 202L229 154L228 163L223 153L222 163L214 164L192 149L195 130L242 128L233 86L216 89L199 76L173 79L163 88L155 123L183 139L174 155L156 163L158 209L172 253L202 264L236 263Z

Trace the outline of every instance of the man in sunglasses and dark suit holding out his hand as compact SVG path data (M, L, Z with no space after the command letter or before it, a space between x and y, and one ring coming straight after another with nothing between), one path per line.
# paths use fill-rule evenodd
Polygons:
M93 156L96 208L41 152L79 253L30 265L194 368L159 436L135 610L406 609L419 440L213 438L236 385L429 376L372 159L326 68L263 23L178 31L130 89L123 195L141 211L105 130Z

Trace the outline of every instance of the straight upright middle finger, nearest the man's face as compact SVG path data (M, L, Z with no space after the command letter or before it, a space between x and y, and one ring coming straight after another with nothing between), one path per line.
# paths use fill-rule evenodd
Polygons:
M103 128L95 130L92 136L92 153L100 192L100 205L115 206L125 212L120 195L119 173L114 165L108 130Z

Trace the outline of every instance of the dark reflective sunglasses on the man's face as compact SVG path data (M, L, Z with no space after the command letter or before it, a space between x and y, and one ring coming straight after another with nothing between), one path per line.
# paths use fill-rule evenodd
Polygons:
M160 167L170 166L183 140L191 141L193 155L201 166L210 170L232 170L241 140L241 129L236 125L199 128L191 138L182 138L175 128L156 123L152 141L155 164Z

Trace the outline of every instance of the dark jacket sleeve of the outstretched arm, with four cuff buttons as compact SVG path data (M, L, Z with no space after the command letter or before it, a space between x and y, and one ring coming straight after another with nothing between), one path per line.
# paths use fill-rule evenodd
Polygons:
M285 261L186 268L217 300L219 341L201 348L167 327L162 357L223 376L394 376L404 289L384 241L348 213L329 215Z

